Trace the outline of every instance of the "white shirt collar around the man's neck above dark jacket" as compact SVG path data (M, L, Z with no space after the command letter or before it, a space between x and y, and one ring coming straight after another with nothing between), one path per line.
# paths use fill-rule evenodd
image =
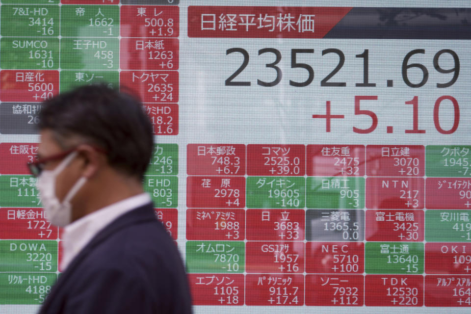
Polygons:
M132 209L151 203L147 193L141 193L98 209L77 219L63 229L63 256L60 270L64 271L78 253L109 223Z

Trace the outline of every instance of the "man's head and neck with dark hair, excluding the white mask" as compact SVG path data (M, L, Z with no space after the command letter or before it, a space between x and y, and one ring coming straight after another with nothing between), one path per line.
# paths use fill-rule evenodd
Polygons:
M70 201L72 221L141 191L153 130L136 99L105 85L83 86L44 102L39 120L38 157L46 160L40 166L61 169L57 199L86 178Z

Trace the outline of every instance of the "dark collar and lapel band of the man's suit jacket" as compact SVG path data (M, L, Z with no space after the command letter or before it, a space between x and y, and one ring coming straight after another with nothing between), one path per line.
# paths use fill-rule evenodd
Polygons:
M49 296L46 298L42 309L46 309L51 305L51 302L54 299L54 295L57 291L60 291L60 288L64 283L67 282L68 278L77 269L77 265L80 264L83 259L85 259L93 249L103 242L110 235L123 229L128 225L133 225L142 221L155 220L154 209L152 203L144 205L142 207L132 209L131 211L123 214L122 216L116 218L108 226L106 226L102 231L95 235L90 242L78 253L78 255L70 262L67 266L67 269L59 276L56 284L53 286Z

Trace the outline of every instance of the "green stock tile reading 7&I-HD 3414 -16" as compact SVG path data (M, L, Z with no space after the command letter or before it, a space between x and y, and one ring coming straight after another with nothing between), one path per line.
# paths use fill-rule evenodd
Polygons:
M59 36L58 5L2 5L1 36Z

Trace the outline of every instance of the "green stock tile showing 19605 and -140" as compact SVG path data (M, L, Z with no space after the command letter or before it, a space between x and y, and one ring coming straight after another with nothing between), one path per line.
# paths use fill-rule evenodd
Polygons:
M247 177L248 208L304 208L304 177Z

